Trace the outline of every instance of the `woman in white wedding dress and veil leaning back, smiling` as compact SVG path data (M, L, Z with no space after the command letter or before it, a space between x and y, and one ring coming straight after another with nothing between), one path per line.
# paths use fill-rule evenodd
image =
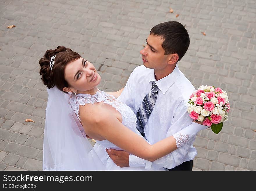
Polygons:
M144 167L120 168L107 153L102 155L102 150L125 150L154 161L177 149L177 141L180 144L176 136L153 145L148 143L136 129L134 112L116 99L120 91L98 90L101 77L93 64L77 52L58 46L55 50L47 50L39 64L41 79L49 95L43 170L145 170ZM188 126L175 134L183 133L191 138L200 130L202 128ZM96 149L86 136L97 140ZM184 144L189 139L182 141Z

